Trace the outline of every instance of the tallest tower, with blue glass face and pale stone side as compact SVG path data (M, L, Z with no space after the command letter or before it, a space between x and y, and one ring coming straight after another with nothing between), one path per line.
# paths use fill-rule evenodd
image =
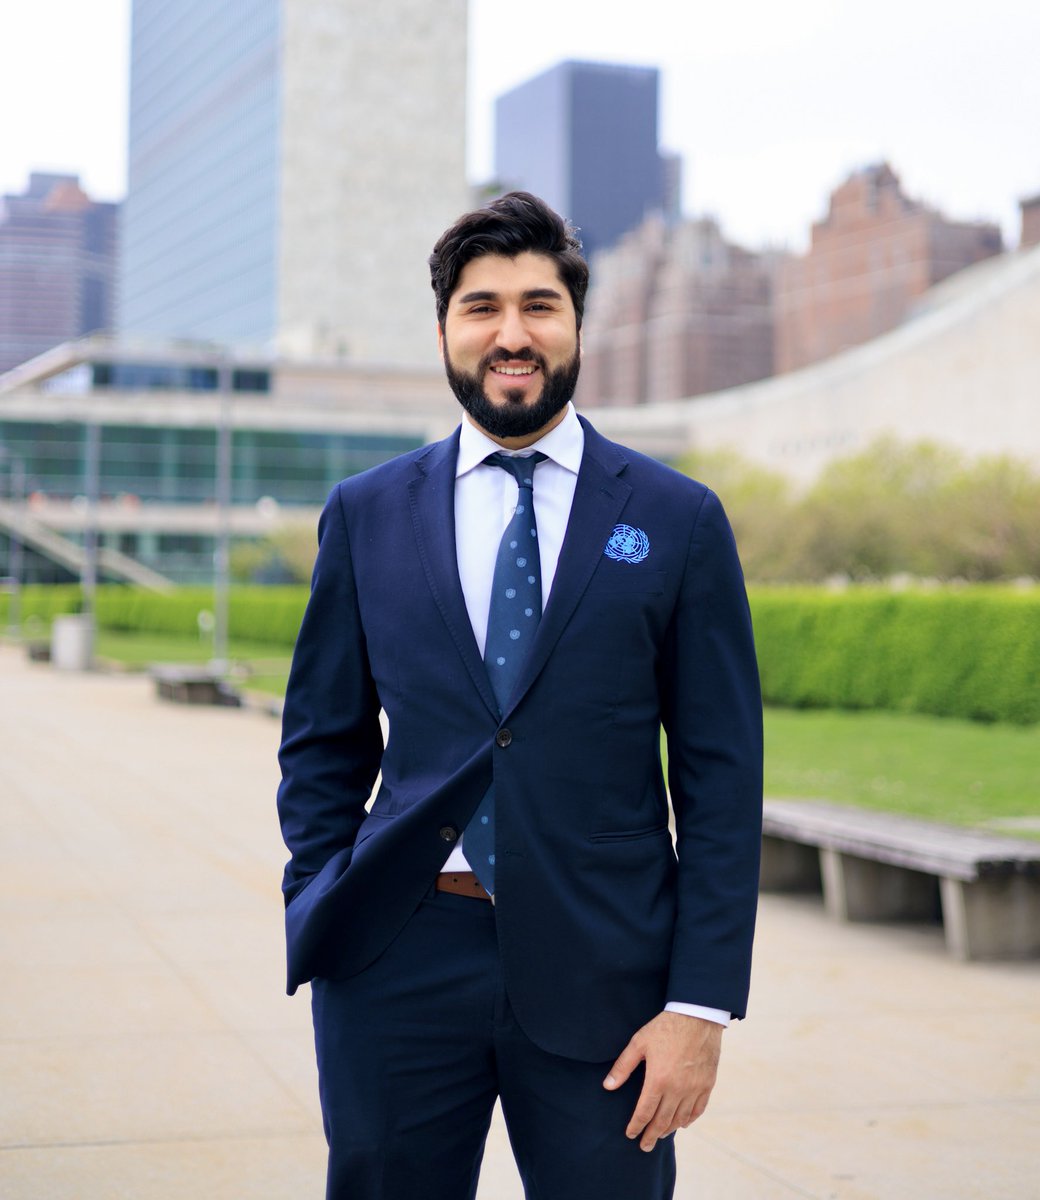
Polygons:
M467 0L134 0L120 330L432 364Z

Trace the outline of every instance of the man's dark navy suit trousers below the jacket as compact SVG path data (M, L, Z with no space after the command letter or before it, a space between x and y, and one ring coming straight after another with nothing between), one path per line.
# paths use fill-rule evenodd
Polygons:
M624 1133L642 1072L607 1092L613 1061L547 1054L517 1025L489 904L431 889L371 967L315 979L312 1001L327 1200L473 1200L495 1097L529 1200L672 1196L673 1140L644 1153Z

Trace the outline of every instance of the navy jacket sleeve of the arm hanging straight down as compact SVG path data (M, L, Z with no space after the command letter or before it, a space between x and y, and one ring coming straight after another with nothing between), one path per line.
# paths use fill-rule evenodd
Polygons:
M662 655L679 859L668 998L744 1016L762 847L762 696L729 522L707 492Z

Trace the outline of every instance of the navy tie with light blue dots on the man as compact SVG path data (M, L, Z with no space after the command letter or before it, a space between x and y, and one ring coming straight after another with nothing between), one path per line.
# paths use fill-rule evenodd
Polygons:
M542 616L539 530L535 524L534 473L546 456L524 458L488 455L485 462L507 470L517 481L517 503L494 563L483 661L499 712L505 710ZM465 827L465 858L488 894L494 894L494 787L487 790Z

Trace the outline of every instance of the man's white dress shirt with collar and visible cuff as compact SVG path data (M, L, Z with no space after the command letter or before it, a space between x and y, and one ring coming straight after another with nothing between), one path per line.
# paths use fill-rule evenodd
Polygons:
M545 611L567 532L584 449L585 432L572 404L567 404L564 419L555 428L523 450L504 449L481 432L469 418L462 422L455 468L455 551L462 594L481 656L487 640L487 616L498 546L512 518L518 493L517 481L507 470L483 460L489 454L527 457L535 450L546 455L546 461L539 463L533 476ZM470 870L463 841L464 839L459 839L455 844L443 870ZM703 1016L720 1025L729 1024L729 1013L720 1009L680 1002L669 1002L666 1007L671 1012Z

